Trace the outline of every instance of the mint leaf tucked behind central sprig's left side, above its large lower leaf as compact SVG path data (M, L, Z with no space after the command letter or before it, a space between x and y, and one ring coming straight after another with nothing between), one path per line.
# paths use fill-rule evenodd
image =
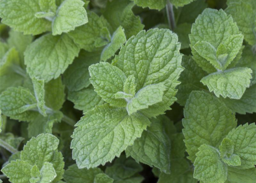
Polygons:
M93 87L84 88L77 92L69 92L68 100L75 104L75 109L82 110L83 113L104 103L102 98L94 92Z

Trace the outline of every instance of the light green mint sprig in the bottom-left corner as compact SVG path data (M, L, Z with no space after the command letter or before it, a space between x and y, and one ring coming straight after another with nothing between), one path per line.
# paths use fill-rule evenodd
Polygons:
M64 162L58 152L59 140L51 134L31 138L20 153L20 158L2 168L13 183L58 182L64 173Z

